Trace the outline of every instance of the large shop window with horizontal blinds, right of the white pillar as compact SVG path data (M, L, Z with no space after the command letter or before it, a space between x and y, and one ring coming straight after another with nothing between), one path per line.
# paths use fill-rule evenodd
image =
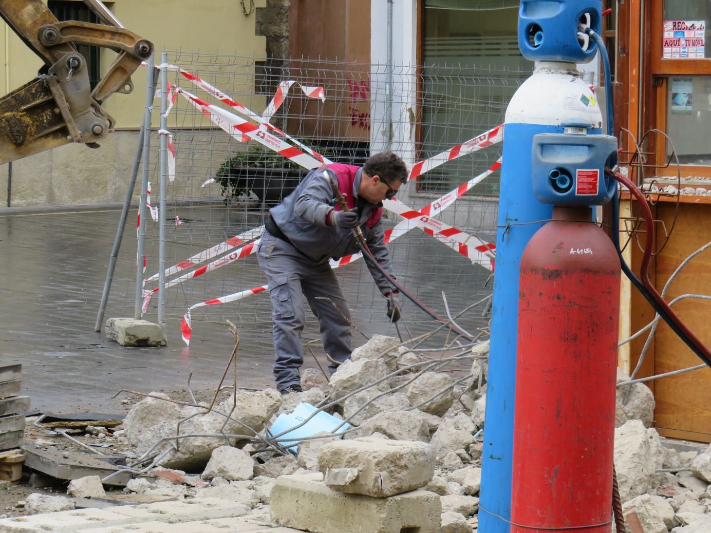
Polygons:
M518 49L519 0L424 0L420 156L432 157L503 123L506 107L533 72ZM501 145L427 173L420 190L442 192L501 156ZM472 191L498 194L498 173Z

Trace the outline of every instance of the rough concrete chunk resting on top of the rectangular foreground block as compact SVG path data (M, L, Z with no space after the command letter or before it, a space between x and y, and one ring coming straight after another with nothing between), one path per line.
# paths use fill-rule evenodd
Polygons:
M424 442L358 438L319 450L324 483L338 492L387 497L424 487L434 475L432 446ZM338 478L334 470L355 470Z

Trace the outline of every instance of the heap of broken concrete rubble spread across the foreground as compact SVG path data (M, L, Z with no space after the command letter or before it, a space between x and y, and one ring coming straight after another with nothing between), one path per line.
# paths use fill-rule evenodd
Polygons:
M23 522L0 519L0 533L186 530L170 529L168 522L201 532L350 533L353 524L374 533L477 532L488 343L457 363L464 374L448 375L437 366L440 354L431 358L394 338L371 342L330 383L312 372L302 393L282 398L273 390L237 392L232 417L241 425L152 394L159 398L141 400L123 428L114 429L126 432L136 456L160 438L175 442L178 421L181 434L201 436L181 437L177 450L171 442L155 448L166 455L125 489L136 505L103 514L53 512L72 509L73 500L31 495L27 507L45 514ZM468 378L453 381L470 367ZM618 376L618 382L627 379ZM380 384L368 387L376 380ZM353 428L343 438L324 433L301 441L295 454L284 454L266 430L299 403L323 407ZM653 397L643 384L619 387L617 403L614 462L624 513L634 510L646 533L710 532L711 446L682 446L651 429ZM232 398L215 410L230 414ZM76 480L70 494L95 496L97 486L88 485ZM166 498L175 501L156 501Z

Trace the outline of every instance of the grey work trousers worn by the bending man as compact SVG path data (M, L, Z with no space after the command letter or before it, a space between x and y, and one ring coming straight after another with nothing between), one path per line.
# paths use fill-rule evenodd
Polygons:
M284 389L299 384L299 367L304 363L301 332L306 324L304 296L319 319L326 353L338 362L351 357L351 311L328 260L314 263L296 248L265 231L257 259L269 281L274 320L274 377ZM331 301L316 298L331 298ZM331 371L335 370L331 364Z

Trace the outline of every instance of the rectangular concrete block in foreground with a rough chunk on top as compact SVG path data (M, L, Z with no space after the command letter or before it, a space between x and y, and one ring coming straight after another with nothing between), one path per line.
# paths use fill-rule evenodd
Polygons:
M282 475L272 489L274 522L314 533L439 533L441 512L432 492L344 494L324 485L321 474Z

